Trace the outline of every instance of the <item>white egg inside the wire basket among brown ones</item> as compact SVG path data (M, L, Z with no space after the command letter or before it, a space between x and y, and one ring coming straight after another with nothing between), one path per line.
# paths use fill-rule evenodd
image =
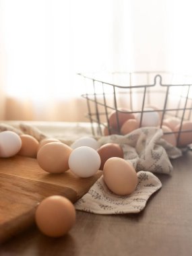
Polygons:
M141 113L136 115L137 121L140 123L141 127L157 127L160 124L160 116L158 112L154 111L153 108L145 108L145 110L153 110L153 112L143 112L142 121L141 121Z

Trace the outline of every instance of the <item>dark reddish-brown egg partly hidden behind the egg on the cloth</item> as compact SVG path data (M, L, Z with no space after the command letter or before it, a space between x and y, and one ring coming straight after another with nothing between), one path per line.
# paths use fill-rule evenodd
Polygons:
M97 150L97 152L100 155L100 160L101 160L100 170L103 169L104 163L106 162L106 160L108 160L108 158L113 158L115 156L119 158L123 158L124 156L121 146L119 146L119 144L117 143L106 143L102 145Z

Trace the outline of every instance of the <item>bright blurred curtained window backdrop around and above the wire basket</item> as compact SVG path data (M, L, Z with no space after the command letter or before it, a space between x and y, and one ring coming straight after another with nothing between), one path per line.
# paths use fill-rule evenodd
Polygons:
M0 119L88 121L77 73L192 73L190 0L0 0Z

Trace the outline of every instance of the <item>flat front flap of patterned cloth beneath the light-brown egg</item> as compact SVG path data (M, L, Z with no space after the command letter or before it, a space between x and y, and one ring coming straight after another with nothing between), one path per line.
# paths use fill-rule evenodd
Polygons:
M162 187L152 172L137 172L138 183L131 195L115 195L105 185L103 176L88 193L75 203L76 210L94 214L136 214L146 206L149 197Z

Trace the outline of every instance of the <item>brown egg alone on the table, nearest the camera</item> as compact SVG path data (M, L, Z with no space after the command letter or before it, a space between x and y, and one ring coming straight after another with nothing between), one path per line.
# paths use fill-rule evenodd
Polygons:
M35 222L46 236L60 237L67 234L75 224L75 207L61 195L46 197L35 212Z

